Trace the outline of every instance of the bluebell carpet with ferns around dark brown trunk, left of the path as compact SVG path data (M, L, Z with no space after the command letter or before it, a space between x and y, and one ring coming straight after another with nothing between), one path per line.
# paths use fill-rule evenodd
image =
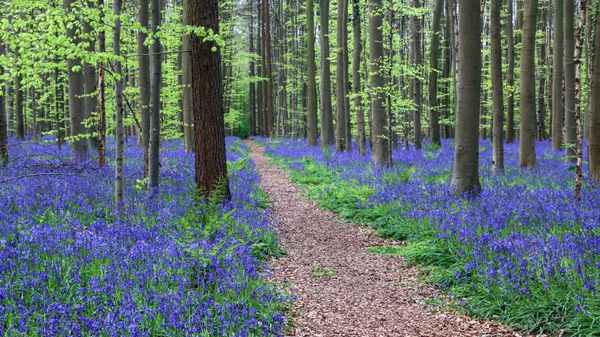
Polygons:
M112 165L51 142L11 140L0 168L0 336L278 336L289 296L264 281L282 254L259 176L227 139L231 201L194 193L194 156L162 143L160 191L126 144L126 199ZM23 175L37 175L22 177ZM9 181L7 181L9 180Z

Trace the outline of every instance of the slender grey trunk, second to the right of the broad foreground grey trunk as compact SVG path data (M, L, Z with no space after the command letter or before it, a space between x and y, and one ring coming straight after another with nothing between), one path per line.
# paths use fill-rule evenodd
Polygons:
M506 142L514 142L514 33L513 33L513 0L507 0L508 11L506 14L506 50L507 69L506 86L509 93L506 98Z

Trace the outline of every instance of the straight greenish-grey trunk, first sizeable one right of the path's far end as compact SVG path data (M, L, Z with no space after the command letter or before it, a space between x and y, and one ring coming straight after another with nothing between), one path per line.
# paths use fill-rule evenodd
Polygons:
M314 1L306 0L306 56L308 61L308 88L306 93L306 136L309 145L316 145L316 64L314 61Z

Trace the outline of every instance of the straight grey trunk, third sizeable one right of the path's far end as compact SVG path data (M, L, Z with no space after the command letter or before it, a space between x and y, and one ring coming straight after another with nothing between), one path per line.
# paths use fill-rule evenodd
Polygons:
M346 97L344 95L344 2L339 0L337 7L336 31L336 151L346 149Z

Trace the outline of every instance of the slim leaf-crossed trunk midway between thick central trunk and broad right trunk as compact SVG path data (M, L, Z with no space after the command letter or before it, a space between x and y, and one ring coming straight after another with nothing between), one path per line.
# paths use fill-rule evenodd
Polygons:
M412 0L415 9L421 7L420 0ZM419 15L411 18L412 53L414 56L413 66L421 67L421 20ZM413 103L414 103L414 148L421 148L421 114L423 113L423 81L416 77L413 80Z

